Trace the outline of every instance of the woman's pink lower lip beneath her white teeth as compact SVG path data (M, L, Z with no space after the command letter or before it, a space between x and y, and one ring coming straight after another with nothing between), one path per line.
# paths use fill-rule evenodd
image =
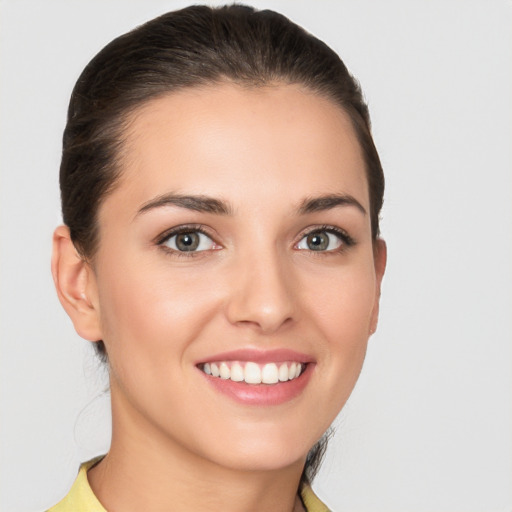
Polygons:
M308 363L299 377L277 384L247 384L212 377L199 370L217 391L245 405L280 405L299 396L311 378L313 363Z

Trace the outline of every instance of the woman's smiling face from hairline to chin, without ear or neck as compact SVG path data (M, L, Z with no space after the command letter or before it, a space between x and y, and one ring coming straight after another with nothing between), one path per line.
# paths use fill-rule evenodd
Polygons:
M348 117L298 86L188 89L132 116L121 165L88 285L114 436L302 464L377 321L385 256Z

